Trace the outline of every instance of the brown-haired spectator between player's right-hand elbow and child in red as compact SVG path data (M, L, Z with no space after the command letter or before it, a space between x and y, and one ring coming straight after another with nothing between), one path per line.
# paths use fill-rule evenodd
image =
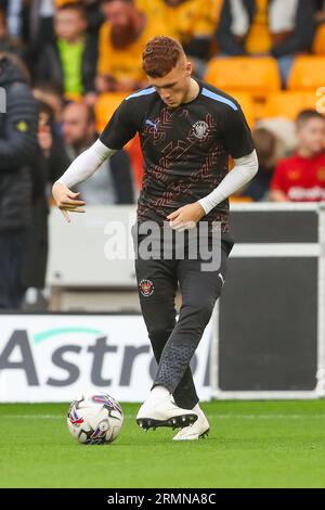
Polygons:
M252 138L259 158L259 173L248 183L244 196L253 202L268 200L270 184L277 158L276 136L265 128L253 129Z

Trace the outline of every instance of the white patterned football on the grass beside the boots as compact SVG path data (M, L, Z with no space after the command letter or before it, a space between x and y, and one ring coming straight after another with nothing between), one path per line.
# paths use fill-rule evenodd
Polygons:
M122 423L121 406L106 393L82 395L72 403L67 415L69 432L84 445L113 443Z

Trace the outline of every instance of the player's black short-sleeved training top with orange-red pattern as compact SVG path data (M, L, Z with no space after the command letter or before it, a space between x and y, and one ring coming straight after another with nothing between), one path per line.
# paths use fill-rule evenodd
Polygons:
M204 81L198 95L177 109L168 107L154 87L126 98L100 139L121 149L136 131L144 156L143 188L138 201L138 222L168 221L182 205L209 194L225 177L229 156L253 151L250 129L238 103ZM221 222L229 231L229 201L202 221Z

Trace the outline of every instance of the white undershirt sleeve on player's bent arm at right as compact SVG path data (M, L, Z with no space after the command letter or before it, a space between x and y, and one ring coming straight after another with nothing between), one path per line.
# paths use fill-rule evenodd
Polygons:
M247 156L234 160L234 168L222 179L220 184L211 193L198 201L206 214L210 213L216 205L247 184L259 169L256 151L252 151Z

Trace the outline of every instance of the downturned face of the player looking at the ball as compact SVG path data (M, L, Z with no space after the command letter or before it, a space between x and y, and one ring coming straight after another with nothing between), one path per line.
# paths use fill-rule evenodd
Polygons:
M164 103L176 109L184 103L191 87L192 64L181 60L178 65L162 78L151 78L150 84L155 87Z

